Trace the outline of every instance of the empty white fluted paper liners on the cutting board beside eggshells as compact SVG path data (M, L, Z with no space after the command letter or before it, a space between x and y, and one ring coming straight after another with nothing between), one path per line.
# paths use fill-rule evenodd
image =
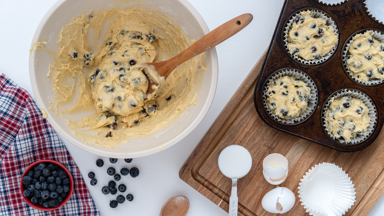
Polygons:
M351 178L335 164L315 165L300 181L300 202L311 216L341 216L356 201Z

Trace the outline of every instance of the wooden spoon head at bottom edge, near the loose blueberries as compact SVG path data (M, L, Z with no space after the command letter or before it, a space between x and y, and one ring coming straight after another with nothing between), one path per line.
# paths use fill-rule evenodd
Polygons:
M161 208L160 216L186 216L190 208L187 197L178 195L167 200Z

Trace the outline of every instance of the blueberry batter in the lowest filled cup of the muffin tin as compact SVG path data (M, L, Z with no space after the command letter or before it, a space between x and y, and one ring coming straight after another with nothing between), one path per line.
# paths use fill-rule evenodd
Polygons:
M327 130L337 139L350 141L357 135L367 133L370 123L367 106L359 99L344 96L331 99L331 104L325 112Z

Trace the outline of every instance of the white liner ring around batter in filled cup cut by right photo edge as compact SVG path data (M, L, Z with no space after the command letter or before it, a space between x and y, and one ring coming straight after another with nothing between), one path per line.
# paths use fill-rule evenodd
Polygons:
M369 32L369 31L373 31L373 30L367 30L367 31L364 31L364 32L361 32L361 33L358 33L358 34L352 36L351 40L346 44L346 46L344 48L344 51L343 51L343 64L344 64L344 67L345 67L345 69L347 71L347 74L353 80L355 80L356 82L358 82L360 84L363 84L363 85L378 85L380 83L383 83L384 79L371 79L371 80L368 80L368 81L361 80L361 79L359 79L359 78L357 78L356 76L353 75L353 72L350 71L350 69L349 69L349 67L347 65L348 53L349 53L349 50L350 50L351 43L354 40L355 36L363 35L363 34L365 34L366 32ZM377 39L377 40L379 40L380 42L384 42L384 35L381 32L373 31L373 36L372 37Z

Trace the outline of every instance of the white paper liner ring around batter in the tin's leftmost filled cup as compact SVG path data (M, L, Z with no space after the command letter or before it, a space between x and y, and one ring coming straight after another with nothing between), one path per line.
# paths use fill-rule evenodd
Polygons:
M299 77L303 82L308 84L309 88L311 89L312 97L308 101L307 109L301 113L298 117L292 118L292 119L284 119L277 116L274 111L272 111L267 103L267 90L271 83L273 83L273 80L279 78L280 76L293 76L293 77ZM305 73L296 69L284 69L277 71L273 73L273 75L268 79L267 84L264 87L263 91L263 103L264 107L266 108L267 112L277 121L282 122L284 124L296 124L299 122L302 122L303 120L307 119L311 113L315 110L316 105L318 103L318 89L315 85L315 82Z

